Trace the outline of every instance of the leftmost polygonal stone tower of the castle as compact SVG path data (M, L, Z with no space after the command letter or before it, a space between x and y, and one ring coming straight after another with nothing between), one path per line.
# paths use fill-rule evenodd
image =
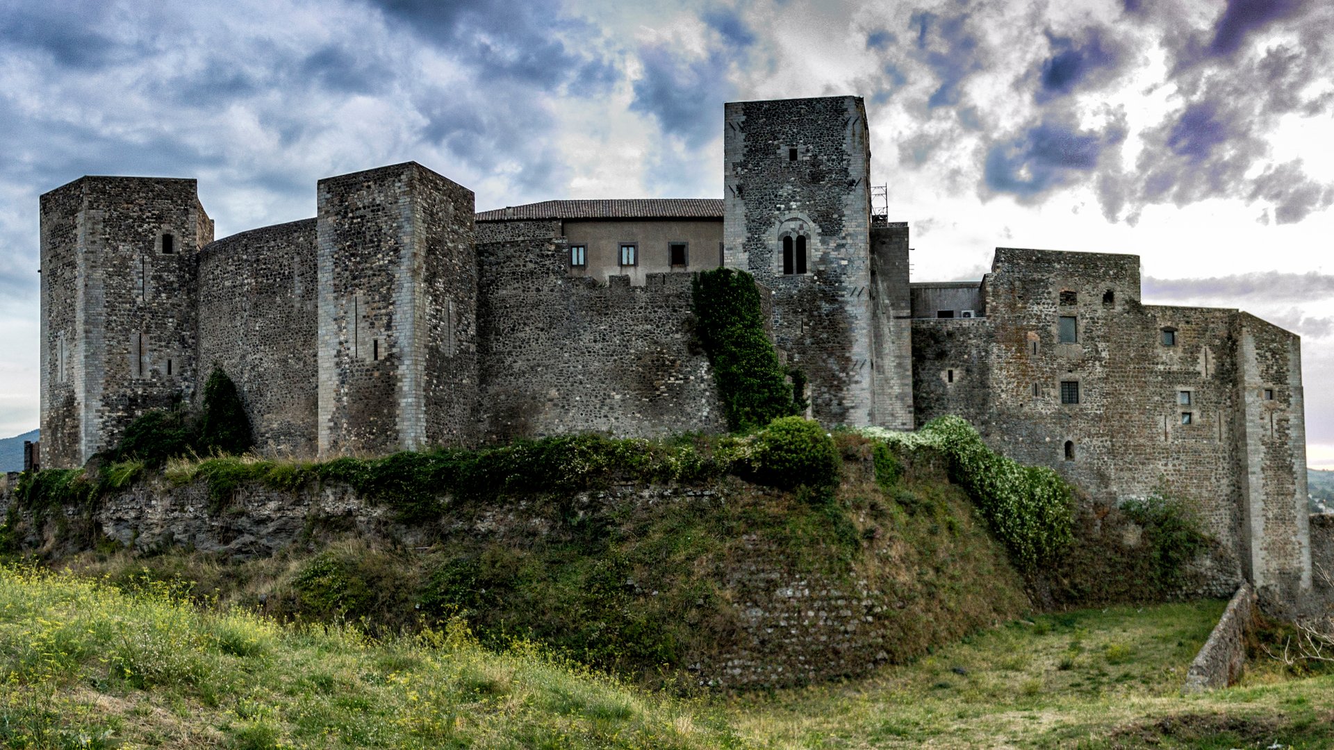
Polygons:
M41 204L45 459L79 466L144 411L189 398L195 262L213 230L195 180L81 177Z

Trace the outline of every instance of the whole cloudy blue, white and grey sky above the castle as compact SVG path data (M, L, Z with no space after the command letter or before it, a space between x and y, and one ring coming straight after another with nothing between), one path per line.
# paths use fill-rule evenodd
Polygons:
M1334 3L0 4L0 436L37 424L37 196L199 179L217 236L416 160L478 208L720 196L736 99L866 97L914 280L1134 252L1145 299L1302 335L1334 467Z

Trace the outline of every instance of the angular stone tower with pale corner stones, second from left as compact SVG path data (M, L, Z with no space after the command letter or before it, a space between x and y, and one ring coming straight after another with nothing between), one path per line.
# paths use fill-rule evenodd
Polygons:
M319 450L467 439L472 192L416 163L319 183Z

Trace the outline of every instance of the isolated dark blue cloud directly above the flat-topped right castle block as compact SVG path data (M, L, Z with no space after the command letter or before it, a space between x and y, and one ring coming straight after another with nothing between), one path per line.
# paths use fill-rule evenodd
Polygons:
M1098 168L1103 149L1123 137L1119 125L1094 132L1045 120L1017 137L992 144L983 163L983 181L990 191L1034 199L1083 180Z

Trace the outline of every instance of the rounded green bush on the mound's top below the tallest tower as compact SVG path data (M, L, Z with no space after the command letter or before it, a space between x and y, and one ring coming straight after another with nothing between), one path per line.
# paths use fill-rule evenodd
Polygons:
M784 416L755 436L751 467L763 484L784 490L828 487L838 482L839 456L834 439L818 422Z

